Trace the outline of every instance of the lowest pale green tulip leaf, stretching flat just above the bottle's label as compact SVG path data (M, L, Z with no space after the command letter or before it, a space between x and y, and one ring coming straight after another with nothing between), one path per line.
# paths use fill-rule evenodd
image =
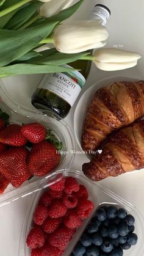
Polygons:
M74 70L74 69L73 69ZM34 65L34 64L15 64L0 68L0 78L6 76L45 74L45 73L71 73L71 68L56 65Z

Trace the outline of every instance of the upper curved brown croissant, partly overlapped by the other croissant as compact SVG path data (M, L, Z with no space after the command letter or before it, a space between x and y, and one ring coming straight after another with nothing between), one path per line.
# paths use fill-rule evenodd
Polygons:
M144 115L144 81L115 82L99 89L82 128L83 150L95 150L115 130Z

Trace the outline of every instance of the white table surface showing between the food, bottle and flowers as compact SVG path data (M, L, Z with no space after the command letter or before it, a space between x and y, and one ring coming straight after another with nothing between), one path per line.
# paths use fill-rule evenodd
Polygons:
M90 16L90 10L92 10L94 3L105 4L112 11L109 23L107 23L107 28L109 29L110 34L109 39L107 40L107 46L113 47L113 45L118 45L123 49L138 51L142 55L142 59L137 67L124 71L115 71L109 73L106 71L100 71L93 66L84 90L99 79L106 78L108 76L128 76L132 78L139 77L140 79L144 79L144 1L85 0L79 12L74 15L74 18L82 18L83 20L88 19ZM15 82L14 78L13 82ZM71 125L71 127L73 126L73 113L74 108L66 118L66 121ZM77 150L78 149L79 148L77 147ZM85 161L87 161L87 158L85 158L84 155L76 156L73 163L73 169L81 169L82 163L85 163ZM131 173L129 175L121 175L116 178L107 178L106 180L101 181L101 184L133 203L144 216L143 180L144 172L140 171L134 174ZM18 255L21 227L30 200L31 196L27 196L21 200L11 203L10 205L5 205L4 207L0 208L1 256Z

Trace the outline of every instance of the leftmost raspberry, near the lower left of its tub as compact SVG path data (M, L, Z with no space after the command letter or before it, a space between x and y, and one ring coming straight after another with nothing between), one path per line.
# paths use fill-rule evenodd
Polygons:
M45 243L45 235L40 227L34 227L27 236L27 246L31 249L40 248Z

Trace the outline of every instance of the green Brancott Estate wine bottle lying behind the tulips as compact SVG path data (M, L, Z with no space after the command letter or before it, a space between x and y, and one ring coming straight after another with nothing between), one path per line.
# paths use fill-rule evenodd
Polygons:
M102 24L105 25L109 16L110 10L106 6L95 5L92 12L93 20L101 19ZM68 73L46 74L32 96L32 104L37 109L50 110L59 115L61 119L65 118L88 78L91 63L90 60L77 60L68 64L67 67L81 70L73 71L73 75Z

